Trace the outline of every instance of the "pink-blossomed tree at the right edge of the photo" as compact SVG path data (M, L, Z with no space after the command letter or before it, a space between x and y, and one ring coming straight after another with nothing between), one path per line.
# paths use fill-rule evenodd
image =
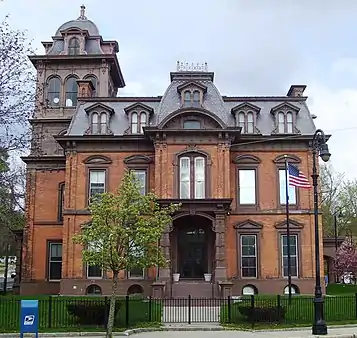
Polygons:
M334 272L337 276L352 273L357 274L357 248L352 238L346 238L336 252Z

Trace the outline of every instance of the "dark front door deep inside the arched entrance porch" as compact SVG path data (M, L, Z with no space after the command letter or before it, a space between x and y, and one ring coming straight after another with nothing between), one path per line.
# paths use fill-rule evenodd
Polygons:
M181 278L203 278L208 272L206 233L202 228L180 229L179 267Z

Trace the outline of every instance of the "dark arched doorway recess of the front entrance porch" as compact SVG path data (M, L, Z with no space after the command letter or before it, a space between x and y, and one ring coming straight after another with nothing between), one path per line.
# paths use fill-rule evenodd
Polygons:
M184 216L174 221L173 269L180 279L203 279L212 272L214 233L212 221L202 216Z

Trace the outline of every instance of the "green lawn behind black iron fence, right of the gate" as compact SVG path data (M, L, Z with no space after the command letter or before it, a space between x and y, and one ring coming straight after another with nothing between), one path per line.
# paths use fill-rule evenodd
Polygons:
M279 302L282 310L278 309ZM249 311L247 308L253 308L252 298L250 296L242 297L241 301L235 302L232 300L230 311L228 305L225 304L221 307L221 323L239 324L243 327L251 326L253 318L248 318L241 313L244 312L244 310ZM258 326L304 326L311 324L313 321L313 296L293 296L290 305L287 296L280 296L280 300L278 300L278 296L255 296L254 308L256 309L254 310L256 311L256 319L254 322L256 322ZM328 324L347 324L357 321L355 295L326 296L324 309L325 320ZM272 315L274 311L276 314L275 317ZM282 316L283 312L285 312L284 316ZM275 319L269 320L269 323L267 323L268 320L262 319L264 315L261 313L268 313L265 319L272 317ZM272 322L275 322L275 324Z

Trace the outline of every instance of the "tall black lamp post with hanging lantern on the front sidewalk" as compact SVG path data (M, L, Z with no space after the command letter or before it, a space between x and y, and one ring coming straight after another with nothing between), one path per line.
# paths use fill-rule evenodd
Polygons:
M317 129L312 139L312 185L314 187L314 223L315 223L315 297L314 297L314 323L312 325L313 335L327 335L327 326L324 320L324 299L321 290L321 267L320 267L320 240L319 240L319 205L316 162L318 156L327 162L330 159L330 152L326 143L326 137L321 129Z

